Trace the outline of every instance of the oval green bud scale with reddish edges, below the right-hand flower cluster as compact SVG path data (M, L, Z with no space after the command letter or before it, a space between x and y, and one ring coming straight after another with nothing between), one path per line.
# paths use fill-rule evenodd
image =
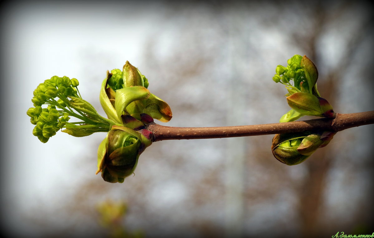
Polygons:
M322 116L322 109L319 106L318 98L310 93L294 93L287 98L288 105L303 115Z

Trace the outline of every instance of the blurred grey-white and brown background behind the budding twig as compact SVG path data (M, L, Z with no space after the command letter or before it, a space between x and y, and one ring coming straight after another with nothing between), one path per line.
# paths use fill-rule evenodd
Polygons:
M53 75L99 89L126 60L172 109L168 126L278 122L289 110L277 65L306 54L335 112L373 110L373 5L367 1L1 2L1 230L12 237L108 237L98 204L126 203L121 225L145 237L371 234L373 125L348 129L297 166L272 135L153 143L135 176L104 182L105 133L48 143L26 115ZM303 118L310 119L310 118ZM161 123L161 122L159 122ZM4 153L5 151L5 153Z

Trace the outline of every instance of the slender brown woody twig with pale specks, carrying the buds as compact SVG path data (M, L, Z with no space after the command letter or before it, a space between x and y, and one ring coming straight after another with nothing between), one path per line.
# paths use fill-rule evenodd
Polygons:
M246 137L254 135L271 135L300 131L343 131L345 129L374 123L374 111L349 114L336 114L335 118L319 118L296 122L271 123L245 126L218 127L172 127L156 123L148 124L147 129L153 132L154 141L189 140L227 137Z

